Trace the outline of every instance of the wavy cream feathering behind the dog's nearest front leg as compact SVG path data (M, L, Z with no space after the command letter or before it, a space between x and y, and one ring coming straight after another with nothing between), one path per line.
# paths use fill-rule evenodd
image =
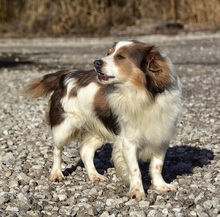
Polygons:
M112 160L114 162L116 174L123 179L126 184L129 184L129 173L122 153L122 143L113 144Z

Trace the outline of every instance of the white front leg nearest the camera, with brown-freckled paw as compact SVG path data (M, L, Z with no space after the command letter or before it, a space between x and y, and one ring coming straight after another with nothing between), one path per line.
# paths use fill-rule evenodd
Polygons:
M129 172L130 190L128 196L138 201L143 200L145 193L137 160L137 146L128 140L124 140L122 151Z

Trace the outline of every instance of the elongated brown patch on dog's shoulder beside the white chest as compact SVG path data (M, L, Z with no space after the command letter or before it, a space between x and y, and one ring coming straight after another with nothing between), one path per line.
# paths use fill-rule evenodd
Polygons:
M95 112L105 127L117 135L120 131L119 125L117 123L117 117L113 115L105 99L105 94L106 87L100 86L100 89L94 98Z

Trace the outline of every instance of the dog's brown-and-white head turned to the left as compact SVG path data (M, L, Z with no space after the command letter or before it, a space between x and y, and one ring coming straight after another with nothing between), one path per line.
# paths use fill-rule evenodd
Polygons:
M171 83L171 62L154 46L134 40L115 43L94 67L104 84L129 83L156 94Z

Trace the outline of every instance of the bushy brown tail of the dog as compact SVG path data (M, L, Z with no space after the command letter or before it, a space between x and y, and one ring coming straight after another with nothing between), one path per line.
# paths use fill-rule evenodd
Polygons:
M62 77L67 72L68 70L62 70L36 78L20 91L20 95L32 98L48 95L60 86L61 80L63 80Z

